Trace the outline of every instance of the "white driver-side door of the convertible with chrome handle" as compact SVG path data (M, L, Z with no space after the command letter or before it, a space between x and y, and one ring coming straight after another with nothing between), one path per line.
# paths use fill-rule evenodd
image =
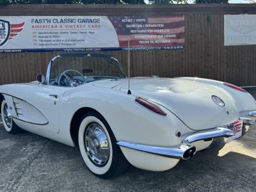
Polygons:
M59 132L59 102L67 87L35 85L26 92L28 121L42 131Z

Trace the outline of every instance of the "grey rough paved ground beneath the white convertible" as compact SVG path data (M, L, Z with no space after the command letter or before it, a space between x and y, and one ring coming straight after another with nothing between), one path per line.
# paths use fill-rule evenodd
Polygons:
M256 92L255 92L256 93ZM256 191L256 127L218 156L198 152L166 172L131 166L116 179L95 177L79 149L29 132L11 135L0 119L0 191ZM147 161L147 159L145 159Z

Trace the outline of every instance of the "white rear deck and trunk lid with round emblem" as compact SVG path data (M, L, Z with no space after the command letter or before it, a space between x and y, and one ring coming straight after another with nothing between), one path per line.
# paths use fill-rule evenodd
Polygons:
M122 92L128 90L127 79L98 84L104 85ZM131 92L136 97L157 102L194 130L220 127L239 118L233 97L222 88L210 84L184 79L136 77L131 78ZM225 106L216 105L212 95L220 97Z

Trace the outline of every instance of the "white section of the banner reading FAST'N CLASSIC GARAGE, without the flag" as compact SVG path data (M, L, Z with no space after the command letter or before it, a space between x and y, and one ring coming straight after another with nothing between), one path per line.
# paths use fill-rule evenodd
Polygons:
M4 50L119 47L108 17L4 17L0 24Z

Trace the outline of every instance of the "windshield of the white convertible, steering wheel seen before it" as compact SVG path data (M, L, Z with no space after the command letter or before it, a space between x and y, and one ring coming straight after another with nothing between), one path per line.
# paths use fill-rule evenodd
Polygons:
M106 79L125 78L122 66L113 58L63 57L52 62L50 84L77 86Z

